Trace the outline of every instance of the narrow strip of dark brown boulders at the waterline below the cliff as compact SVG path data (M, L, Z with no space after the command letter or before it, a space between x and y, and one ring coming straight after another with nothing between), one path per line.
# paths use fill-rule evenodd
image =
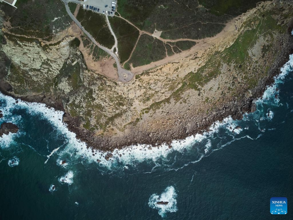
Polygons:
M289 29L289 28L288 28ZM287 41L284 42L284 40L287 38ZM222 103L223 108L222 109L217 109L215 112L216 114L206 114L205 122L201 123L199 127L193 127L191 128L187 133L183 134L183 132L179 132L179 135L177 133L177 136L171 136L171 138L168 138L167 140L163 141L154 141L153 137L149 135L144 135L144 138L135 138L132 133L126 137L121 138L115 138L113 140L112 137L109 136L94 136L94 134L90 131L81 131L79 129L79 124L80 120L78 118L71 117L68 113L65 112L62 102L59 101L58 99L54 99L55 97L50 97L50 96L45 96L45 94L42 96L40 95L32 95L32 96L16 96L13 95L3 89L3 85L0 85L1 92L5 95L8 95L10 97L13 97L14 99L21 99L23 101L28 101L28 102L37 102L37 103L45 103L46 107L51 108L53 107L56 110L63 111L63 122L66 123L66 126L69 131L74 132L76 134L76 139L79 139L80 141L83 141L86 143L87 148L91 147L92 149L96 150L102 150L104 152L110 151L112 152L115 148L117 149L122 149L130 145L139 145L139 144L145 144L145 145L161 145L163 143L166 143L169 145L169 148L171 148L171 142L173 140L183 140L191 135L196 135L202 134L205 131L209 131L209 127L216 121L222 121L224 118L231 116L234 120L241 120L243 118L244 113L250 113L255 111L256 109L251 109L253 104L253 100L256 98L262 97L265 89L272 85L274 81L274 77L278 74L280 74L280 68L288 61L289 55L293 54L293 36L289 34L284 34L282 36L283 44L286 44L283 46L282 53L280 57L278 57L277 61L272 64L269 70L269 76L260 80L258 82L257 87L253 91L251 91L252 96L247 97L247 99L243 99L242 102L237 102L237 103ZM291 47L290 47L291 45ZM241 109L235 110L235 111L230 111L231 109ZM186 118L190 116L185 116ZM158 137L156 139L159 139Z

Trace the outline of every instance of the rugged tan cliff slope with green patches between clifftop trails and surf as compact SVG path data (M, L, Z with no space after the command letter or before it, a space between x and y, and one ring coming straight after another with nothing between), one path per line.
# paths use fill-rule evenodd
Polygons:
M228 115L241 119L293 53L293 4L265 2L205 39L208 47L124 84L87 68L69 25L50 40L32 40L12 33L5 16L1 91L65 111L69 129L102 150L171 143Z

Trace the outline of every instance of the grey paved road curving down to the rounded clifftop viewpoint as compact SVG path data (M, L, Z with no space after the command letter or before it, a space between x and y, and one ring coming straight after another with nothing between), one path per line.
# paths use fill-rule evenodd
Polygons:
M71 13L71 11L68 7L68 4L67 4L68 1L66 1L66 0L61 0L61 1L63 1L63 3L65 4L65 8L66 8L67 13L71 17L71 19L76 23L76 25L79 26L79 28L81 28L81 30L93 41L94 44L96 44L99 48L101 48L102 50L109 53L114 58L114 60L116 61L116 64L117 64L117 69L118 69L118 81L129 82L133 78L134 74L128 70L123 69L120 66L120 62L118 60L118 57L110 49L105 48L104 46L100 45L94 38L92 38L90 33L88 33L86 30L84 30L84 28L82 28L81 23L79 23L79 21L77 21L77 19ZM74 2L74 3L78 2L78 4L82 3L81 1L76 1L76 0L70 0L70 1Z

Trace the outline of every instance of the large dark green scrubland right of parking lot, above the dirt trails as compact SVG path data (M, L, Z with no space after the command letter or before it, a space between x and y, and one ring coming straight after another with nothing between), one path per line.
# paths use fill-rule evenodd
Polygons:
M201 39L214 36L224 23L250 8L258 0L120 0L118 13L138 28L164 31L167 39Z

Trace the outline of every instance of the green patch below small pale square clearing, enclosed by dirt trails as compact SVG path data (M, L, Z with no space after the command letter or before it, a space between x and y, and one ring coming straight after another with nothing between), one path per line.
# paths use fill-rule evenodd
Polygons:
M133 67L142 66L166 57L166 49L161 40L149 35L140 36L129 63Z

